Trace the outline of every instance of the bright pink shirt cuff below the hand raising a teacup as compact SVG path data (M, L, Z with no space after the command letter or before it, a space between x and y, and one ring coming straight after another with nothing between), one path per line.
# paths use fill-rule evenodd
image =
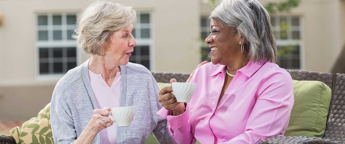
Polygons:
M178 129L178 128L188 124L189 108L186 107L186 111L179 116L168 115L166 117L166 119L168 120L168 123L169 123L171 129L174 131L175 129Z

